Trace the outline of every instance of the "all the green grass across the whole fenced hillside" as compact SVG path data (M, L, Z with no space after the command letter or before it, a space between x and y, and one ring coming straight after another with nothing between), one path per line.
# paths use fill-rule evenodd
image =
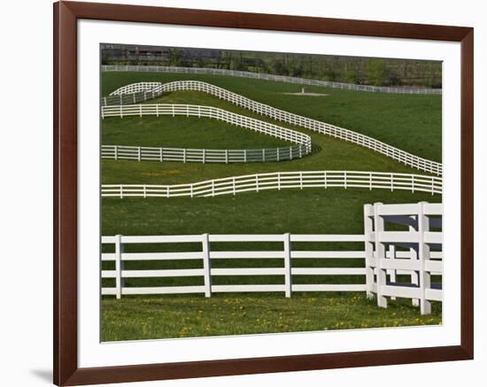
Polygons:
M441 97L360 93L308 88L327 97L295 97L298 85L222 76L104 73L104 95L135 81L200 79L318 120L372 135L428 159L441 159ZM208 104L259 120L271 121L218 98L197 92L174 92L148 103ZM352 143L278 123L312 136L313 153L275 163L199 164L103 160L103 183L176 184L238 174L298 170L371 170L418 173ZM392 141L389 141L392 140ZM256 149L289 143L216 120L183 117L103 120L102 143L212 149ZM422 174L422 173L421 173ZM102 199L102 235L177 234L361 234L367 203L440 202L441 196L388 190L305 189L244 193L236 197ZM245 244L251 250L276 250L277 244ZM243 244L212 245L212 250L240 250ZM199 251L199 244L128 245L126 252ZM294 244L295 250L361 250L363 244ZM104 246L104 252L110 252ZM126 262L127 269L197 268L200 260ZM360 259L299 259L296 267L361 267ZM105 269L112 263L104 262ZM282 267L282 259L219 259L213 267ZM365 283L363 275L294 275L294 283ZM104 280L112 286L112 280ZM128 286L198 285L202 278L130 278ZM280 275L218 276L213 283L283 283ZM359 329L441 323L441 304L421 317L410 301L380 309L362 293L217 294L123 297L102 300L102 340L197 337L323 329Z

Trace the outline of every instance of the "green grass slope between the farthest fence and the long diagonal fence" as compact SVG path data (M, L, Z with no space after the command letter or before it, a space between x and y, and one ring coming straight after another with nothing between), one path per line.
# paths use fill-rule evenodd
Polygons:
M104 72L102 94L137 81L207 81L258 102L370 135L401 150L441 161L442 98L305 86L326 97L291 96L302 85L224 75ZM185 100L183 103L189 104Z

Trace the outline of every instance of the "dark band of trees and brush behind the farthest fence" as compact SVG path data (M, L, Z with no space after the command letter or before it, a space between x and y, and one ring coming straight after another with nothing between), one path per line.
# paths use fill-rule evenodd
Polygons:
M439 61L110 45L104 65L210 67L375 86L441 88Z

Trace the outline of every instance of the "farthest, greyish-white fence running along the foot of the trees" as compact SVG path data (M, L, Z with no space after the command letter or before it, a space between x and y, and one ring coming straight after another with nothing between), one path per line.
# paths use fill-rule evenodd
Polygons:
M248 71L227 70L221 68L205 67L175 67L175 66L102 66L102 71L134 71L134 72L153 72L153 73L175 73L175 74L212 74L228 75L241 78L252 78L265 81L280 81L286 83L298 83L310 86L324 86L332 89L345 89L355 91L369 91L374 93L393 93L393 94L442 94L442 89L429 88L397 88L390 86L357 85L353 83L313 80L309 78L290 77L285 75L274 75L264 73L251 73Z

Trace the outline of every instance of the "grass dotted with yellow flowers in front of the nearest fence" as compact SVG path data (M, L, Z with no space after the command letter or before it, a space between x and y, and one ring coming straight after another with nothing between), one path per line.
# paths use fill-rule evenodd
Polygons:
M104 298L102 341L421 326L441 323L441 304L421 316L411 301L387 309L358 293Z

